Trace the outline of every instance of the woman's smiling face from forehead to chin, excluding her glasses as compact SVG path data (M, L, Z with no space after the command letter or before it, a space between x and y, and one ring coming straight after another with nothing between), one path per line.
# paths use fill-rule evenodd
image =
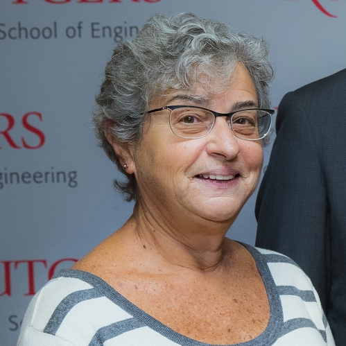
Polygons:
M222 92L211 94L196 86L187 97L174 91L150 104L150 109L164 105L197 105L228 113L257 107L257 94L248 71L238 64ZM222 117L216 118L206 137L183 139L171 131L168 114L168 110L150 114L143 139L131 148L131 173L141 201L168 217L234 220L259 181L261 141L238 139Z

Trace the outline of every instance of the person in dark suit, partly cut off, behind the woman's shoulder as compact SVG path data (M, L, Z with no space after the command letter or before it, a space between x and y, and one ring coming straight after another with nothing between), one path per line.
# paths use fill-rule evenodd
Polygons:
M284 96L259 189L256 245L311 278L346 345L346 69Z

